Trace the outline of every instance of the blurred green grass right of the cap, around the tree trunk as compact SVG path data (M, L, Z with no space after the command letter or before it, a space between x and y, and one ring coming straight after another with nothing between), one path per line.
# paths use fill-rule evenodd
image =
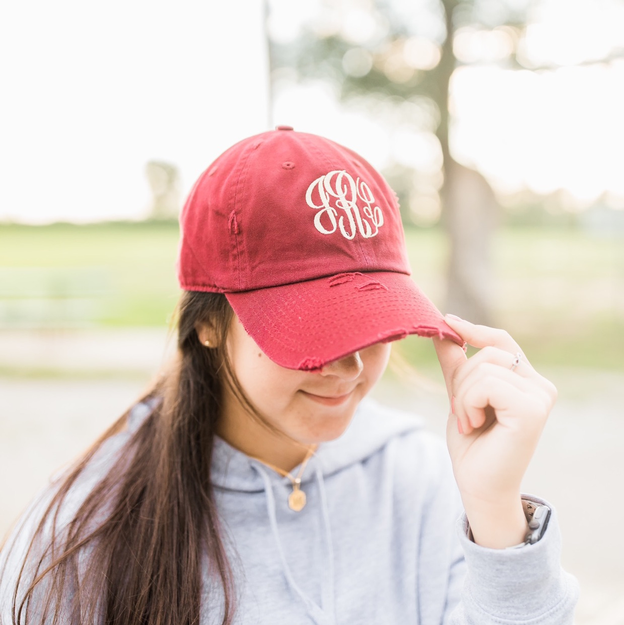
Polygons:
M408 230L416 282L441 307L446 240ZM502 228L495 236L493 318L534 366L624 369L624 235L572 228ZM416 366L435 364L430 341L402 346Z

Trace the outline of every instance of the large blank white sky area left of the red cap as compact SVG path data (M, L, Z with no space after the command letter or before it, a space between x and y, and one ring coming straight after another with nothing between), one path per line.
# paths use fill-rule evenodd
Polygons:
M268 128L261 2L31 0L0 20L0 219L146 214L147 161L188 191Z

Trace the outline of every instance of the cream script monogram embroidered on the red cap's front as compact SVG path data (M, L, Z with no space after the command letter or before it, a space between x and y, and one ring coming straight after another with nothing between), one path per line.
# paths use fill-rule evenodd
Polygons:
M364 216L360 214L358 199L364 202L361 209ZM356 232L368 239L383 226L383 213L379 206L373 206L375 197L368 184L360 178L353 180L344 170L330 171L317 178L308 187L306 202L316 209L314 225L321 234L332 234L338 227L346 239L353 239ZM345 214L336 219L339 210Z

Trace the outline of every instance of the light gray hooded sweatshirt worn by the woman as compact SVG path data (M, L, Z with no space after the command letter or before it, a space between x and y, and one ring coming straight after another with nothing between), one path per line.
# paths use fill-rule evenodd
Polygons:
M146 412L136 407L129 431L106 442L68 508L76 509ZM556 512L534 545L496 550L471 542L445 444L411 414L362 402L345 434L308 462L300 512L288 507L287 477L220 438L212 480L236 577L236 624L573 622L578 585L561 570ZM8 546L16 541L9 561L6 548L0 554L0 571L8 565L0 622L11 622L11 577L46 499L9 539ZM205 579L201 623L216 625L221 594Z

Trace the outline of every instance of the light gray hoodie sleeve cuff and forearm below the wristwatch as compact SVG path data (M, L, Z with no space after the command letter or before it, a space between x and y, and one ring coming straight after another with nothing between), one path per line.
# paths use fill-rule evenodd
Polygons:
M571 625L578 599L578 582L561 569L561 533L551 508L540 541L519 549L489 549L468 538L468 520L456 524L465 554L466 579L460 603L449 625ZM451 606L449 606L451 607Z

